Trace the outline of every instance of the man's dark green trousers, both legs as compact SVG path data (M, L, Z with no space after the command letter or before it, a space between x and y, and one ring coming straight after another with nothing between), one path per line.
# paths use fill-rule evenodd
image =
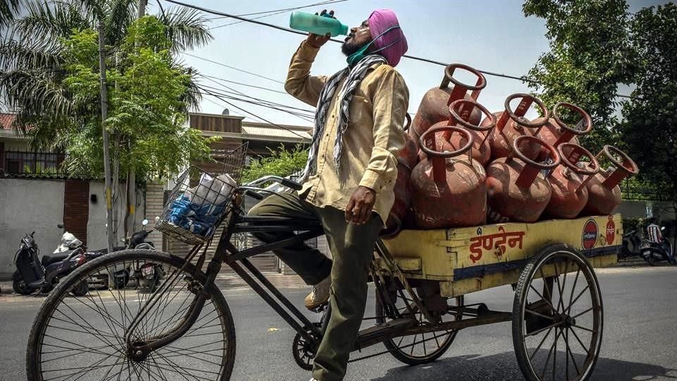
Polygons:
M317 284L331 274L331 317L315 356L312 377L319 381L343 380L365 314L367 273L381 219L372 214L366 224L348 224L343 210L315 207L296 193L272 195L252 207L249 214L318 221L324 227L333 263L305 243L275 250L275 254L307 284ZM255 236L264 242L274 242L292 234L270 232Z

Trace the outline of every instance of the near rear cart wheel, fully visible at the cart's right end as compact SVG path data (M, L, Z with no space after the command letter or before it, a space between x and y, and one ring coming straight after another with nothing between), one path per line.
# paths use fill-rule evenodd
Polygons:
M513 304L513 345L525 379L587 380L603 320L590 263L563 244L543 248L523 270Z

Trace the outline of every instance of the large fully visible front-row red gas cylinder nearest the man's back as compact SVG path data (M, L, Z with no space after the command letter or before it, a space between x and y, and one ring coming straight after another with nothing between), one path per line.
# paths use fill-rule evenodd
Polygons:
M425 145L429 134L453 131L465 137L465 145L452 152L439 152ZM428 159L411 174L411 206L416 226L422 229L484 224L487 211L487 176L484 168L468 154L472 135L463 128L443 126L423 133L419 144Z

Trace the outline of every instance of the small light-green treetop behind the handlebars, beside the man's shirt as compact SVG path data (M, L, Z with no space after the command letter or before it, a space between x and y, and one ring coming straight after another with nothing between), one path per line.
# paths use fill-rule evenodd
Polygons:
M263 176L276 175L286 177L303 171L308 159L308 151L302 145L296 145L292 150L287 150L280 145L277 150L268 149L269 157L253 159L249 166L243 170L243 182L254 181Z

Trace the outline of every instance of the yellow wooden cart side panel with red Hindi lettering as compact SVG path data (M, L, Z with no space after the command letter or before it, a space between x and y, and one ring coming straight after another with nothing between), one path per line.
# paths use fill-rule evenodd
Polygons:
M421 258L420 269L407 272L408 277L447 282L472 278L472 282L480 284L510 284L514 282L508 282L513 277L509 273L523 267L527 258L549 243L566 243L582 250L588 258L616 253L623 239L622 226L621 215L614 214L533 224L405 230L384 243L396 259ZM608 258L599 262L599 265L611 264ZM506 273L496 277L506 277L504 281L483 279L499 273ZM470 280L464 284L472 283ZM466 288L477 289L475 286Z

